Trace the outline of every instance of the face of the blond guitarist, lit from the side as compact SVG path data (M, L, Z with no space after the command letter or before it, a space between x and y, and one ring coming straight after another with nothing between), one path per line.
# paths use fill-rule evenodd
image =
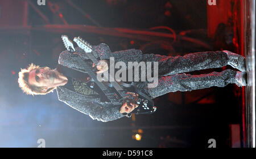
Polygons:
M46 70L44 68L34 69L28 75L28 84L51 88L55 78L56 73L54 70Z

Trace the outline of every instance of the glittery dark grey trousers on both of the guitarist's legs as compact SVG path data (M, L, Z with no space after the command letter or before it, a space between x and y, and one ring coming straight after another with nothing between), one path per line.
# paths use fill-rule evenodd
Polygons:
M228 56L222 51L205 51L176 57L144 54L142 61L158 62L158 85L155 88L148 88L146 82L142 87L152 98L169 92L192 91L213 86L225 87L229 83L236 82L237 72L234 70L201 75L184 74L184 72L226 66Z

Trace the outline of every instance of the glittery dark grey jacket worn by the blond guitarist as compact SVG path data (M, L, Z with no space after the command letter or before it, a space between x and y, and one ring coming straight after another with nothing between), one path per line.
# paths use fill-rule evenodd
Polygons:
M87 59L86 53L80 48L75 48L76 52L82 59ZM109 59L114 57L115 61L123 61L126 63L129 61L141 62L142 51L136 49L112 51L106 44L100 44L92 47L92 53L95 57L100 59ZM82 66L71 57L71 53L65 50L60 53L59 64L69 68L76 68L77 70L83 70ZM71 106L73 109L80 111L86 115L89 115L93 120L108 122L115 119L125 117L125 115L119 112L121 105L113 105L111 102L101 102L100 98L93 96L86 96L84 94L71 91L63 86L57 87L57 96L60 101Z

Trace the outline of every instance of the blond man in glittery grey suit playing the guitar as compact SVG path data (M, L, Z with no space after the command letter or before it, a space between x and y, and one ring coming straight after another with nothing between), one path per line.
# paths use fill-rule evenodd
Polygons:
M87 56L84 50L75 48L76 54L86 61ZM192 91L209 87L225 87L233 83L242 87L246 85L245 58L230 51L205 51L191 53L176 57L168 57L158 54L143 54L141 50L130 49L112 51L106 44L92 46L92 54L100 59L97 64L97 74L108 71L106 61L114 57L115 61L127 62L158 62L158 85L147 87L148 81L137 82L137 87L151 98L176 91ZM59 65L83 70L81 65L73 58L68 50L63 51L59 56ZM190 75L184 72L218 68L230 65L239 71L224 70L210 74ZM95 64L93 63L93 67ZM113 105L111 102L102 102L100 93L91 89L84 81L73 78L71 75L61 73L57 67L54 70L49 67L39 67L31 63L27 69L19 72L19 87L26 94L47 94L57 91L60 101L89 115L92 119L108 122L125 117L137 108L137 95L127 92L133 97L130 104L124 102L122 105Z

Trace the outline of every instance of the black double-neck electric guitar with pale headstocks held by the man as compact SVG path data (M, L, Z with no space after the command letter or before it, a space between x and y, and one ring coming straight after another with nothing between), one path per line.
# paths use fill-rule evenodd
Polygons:
M73 46L73 43L71 40L68 39L68 36L61 36L65 48L73 54L75 52L75 48ZM82 40L81 37L75 37L73 41L76 42L76 44L85 51L86 56L88 59L90 59L94 64L97 65L99 62L96 57L92 54L92 45L90 45L88 42ZM118 82L116 80L110 80L109 82L102 82L97 80L97 74L95 71L93 71L91 66L88 66L86 62L83 61L83 59L79 56L73 56L77 60L77 62L80 63L81 66L84 67L84 70L88 73L90 76L90 82L96 84L98 88L101 89L103 94L105 95L105 99L107 101L112 102L114 105L122 105L123 100L127 97L127 92L137 93L138 94L138 100L136 101L139 105L137 108L135 108L131 113L127 114L127 117L130 117L132 113L135 114L144 114L144 113L154 113L156 110L156 106L154 106L154 101L147 96L147 94L144 94L143 92L139 91L136 87L136 84L132 82L131 84L123 83L122 81ZM113 77L110 76L110 78L113 79ZM128 101L127 101L128 104Z

